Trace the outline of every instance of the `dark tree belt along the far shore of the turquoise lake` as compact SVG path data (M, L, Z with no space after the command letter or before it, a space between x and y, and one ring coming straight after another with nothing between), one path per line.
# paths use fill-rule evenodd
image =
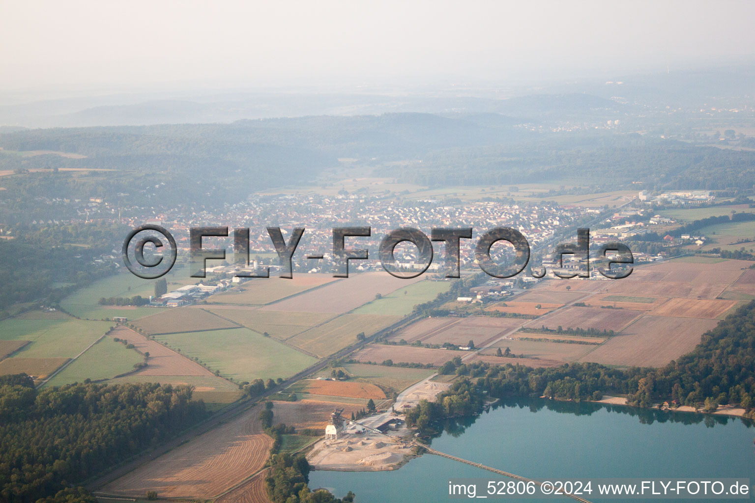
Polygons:
M735 404L753 418L755 397L755 301L738 308L716 328L704 333L689 354L660 369L619 369L599 363L566 363L532 369L523 365L494 366L485 362L446 365L463 376L436 402L423 400L406 415L421 430L433 422L468 416L488 397L550 397L557 400L599 400L602 394L626 394L630 405L648 407L663 401L707 411Z

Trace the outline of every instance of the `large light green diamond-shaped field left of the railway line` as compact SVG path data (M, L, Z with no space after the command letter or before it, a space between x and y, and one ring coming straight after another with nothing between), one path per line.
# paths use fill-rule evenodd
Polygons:
M238 381L286 378L316 361L247 328L171 333L155 336L155 340L180 349L184 356L198 357L211 369Z

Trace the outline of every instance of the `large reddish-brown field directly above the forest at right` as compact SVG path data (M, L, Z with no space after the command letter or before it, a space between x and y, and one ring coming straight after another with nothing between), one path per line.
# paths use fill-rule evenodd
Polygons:
M616 336L599 345L580 361L606 365L661 367L689 353L716 320L663 317L645 314Z

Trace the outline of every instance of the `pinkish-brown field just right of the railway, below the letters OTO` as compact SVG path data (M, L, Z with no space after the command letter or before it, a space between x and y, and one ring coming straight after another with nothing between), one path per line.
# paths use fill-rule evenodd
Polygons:
M445 323L439 323L440 321ZM488 316L425 318L393 334L390 340L404 339L406 342L420 340L425 344L450 342L455 345L466 345L471 339L477 347L481 347L503 336L504 333L518 329L524 322L525 320L518 318Z

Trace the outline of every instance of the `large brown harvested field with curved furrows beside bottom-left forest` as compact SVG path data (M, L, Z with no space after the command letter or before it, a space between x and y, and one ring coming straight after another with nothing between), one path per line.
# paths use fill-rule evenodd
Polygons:
M112 481L104 492L168 498L212 498L251 477L267 461L273 439L263 433L254 406L230 422Z

